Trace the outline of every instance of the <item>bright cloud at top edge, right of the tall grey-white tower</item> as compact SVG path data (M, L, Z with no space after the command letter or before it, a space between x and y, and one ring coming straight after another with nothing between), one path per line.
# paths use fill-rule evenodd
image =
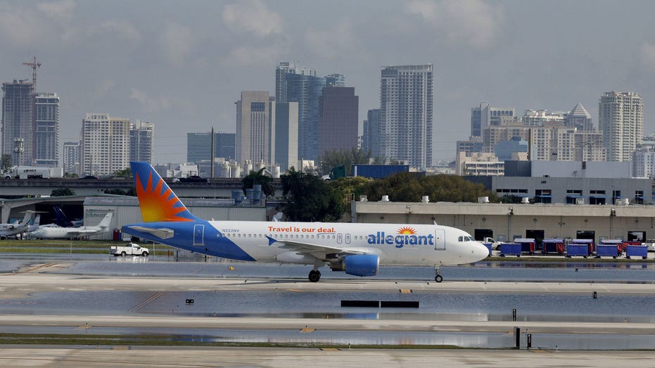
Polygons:
M500 32L504 11L499 3L482 0L409 0L407 13L418 15L452 43L489 47Z

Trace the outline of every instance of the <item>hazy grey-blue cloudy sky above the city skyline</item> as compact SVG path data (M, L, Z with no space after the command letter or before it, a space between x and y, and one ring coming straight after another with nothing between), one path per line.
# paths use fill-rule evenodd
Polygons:
M87 113L155 124L153 163L186 161L186 132L236 132L241 91L274 94L297 61L341 73L379 108L384 65L434 65L434 152L453 160L471 108L568 111L598 122L606 91L635 91L655 130L655 1L2 1L0 81L61 99L60 144Z

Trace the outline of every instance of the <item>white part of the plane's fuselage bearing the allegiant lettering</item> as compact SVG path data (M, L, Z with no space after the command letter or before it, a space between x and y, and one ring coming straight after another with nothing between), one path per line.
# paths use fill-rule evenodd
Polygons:
M482 260L488 249L466 231L425 224L209 221L218 242L229 241L260 262L312 264L338 253L379 255L380 265L462 265ZM199 234L196 236L201 246ZM223 239L221 239L223 238ZM210 239L206 239L209 243ZM303 245L307 248L303 248ZM322 248L326 247L324 252ZM302 251L300 248L303 248ZM302 254L301 254L302 253ZM312 254L314 257L307 256ZM323 254L323 256L321 255Z

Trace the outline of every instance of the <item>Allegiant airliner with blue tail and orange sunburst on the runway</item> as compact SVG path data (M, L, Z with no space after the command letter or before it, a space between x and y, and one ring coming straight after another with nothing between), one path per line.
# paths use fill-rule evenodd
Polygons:
M483 260L489 250L461 229L437 224L257 222L201 220L149 163L130 163L144 222L126 224L132 236L191 252L255 262L313 265L354 276L374 276L380 265L440 267Z

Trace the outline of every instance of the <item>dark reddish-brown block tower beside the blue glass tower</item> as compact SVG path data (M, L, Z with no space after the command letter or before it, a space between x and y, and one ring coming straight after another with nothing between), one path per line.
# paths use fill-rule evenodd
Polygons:
M357 148L360 97L353 87L325 87L319 103L319 157Z

